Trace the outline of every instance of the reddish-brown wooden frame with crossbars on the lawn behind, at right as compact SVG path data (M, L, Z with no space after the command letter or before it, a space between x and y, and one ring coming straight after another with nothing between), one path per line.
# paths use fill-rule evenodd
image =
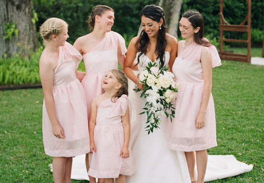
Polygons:
M234 60L240 62L251 62L251 0L246 0L248 3L248 13L245 20L239 25L230 25L225 19L223 15L223 2L224 0L220 0L220 58L223 60ZM247 25L245 23L247 22ZM231 39L231 38L223 38L223 31L229 32L245 32L247 33L247 39ZM247 43L248 52L247 55L242 54L234 54L227 53L223 50L223 42L240 42ZM264 55L264 50L263 50Z

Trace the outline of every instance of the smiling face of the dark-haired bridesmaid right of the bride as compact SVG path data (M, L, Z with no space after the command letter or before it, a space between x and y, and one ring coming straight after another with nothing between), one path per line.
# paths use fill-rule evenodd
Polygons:
M199 31L200 27L194 29L188 18L182 17L179 22L179 29L181 32L181 37L186 39L194 37L194 34Z

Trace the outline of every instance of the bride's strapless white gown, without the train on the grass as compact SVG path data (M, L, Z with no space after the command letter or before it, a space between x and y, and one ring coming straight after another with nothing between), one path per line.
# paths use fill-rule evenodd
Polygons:
M169 52L165 52L165 66L168 61ZM151 60L146 55L142 55L138 64L139 72L143 71L149 62ZM159 65L159 60L155 62ZM167 146L166 117L161 120L160 129L154 129L149 135L145 130L147 114L139 113L143 111L146 99L140 98L140 94L135 93L134 99L131 100L136 113L130 135L135 174L127 176L126 183L190 183L184 152L175 153Z

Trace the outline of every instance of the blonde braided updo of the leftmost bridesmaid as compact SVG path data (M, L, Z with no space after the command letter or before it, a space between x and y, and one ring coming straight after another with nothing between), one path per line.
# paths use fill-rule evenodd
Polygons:
M59 35L68 24L59 18L49 18L40 26L40 35L44 40L49 40L52 35Z

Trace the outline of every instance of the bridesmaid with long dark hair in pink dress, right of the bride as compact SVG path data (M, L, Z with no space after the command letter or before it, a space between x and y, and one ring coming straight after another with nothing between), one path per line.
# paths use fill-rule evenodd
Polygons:
M185 12L179 25L185 40L178 43L178 57L172 72L181 86L174 121L172 124L168 122L168 125L172 125L168 128L168 144L171 149L185 151L192 183L196 183L196 161L197 183L203 183L207 149L217 146L211 80L212 68L220 66L221 60L216 48L203 38L203 16L199 12Z

